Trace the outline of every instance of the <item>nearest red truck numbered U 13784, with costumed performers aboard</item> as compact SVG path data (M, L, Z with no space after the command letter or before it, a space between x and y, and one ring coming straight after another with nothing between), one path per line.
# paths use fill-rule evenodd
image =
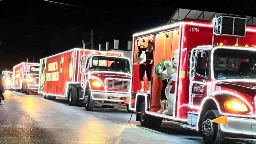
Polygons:
M180 122L205 143L256 135L256 27L246 21L184 19L134 34L129 109L136 120Z

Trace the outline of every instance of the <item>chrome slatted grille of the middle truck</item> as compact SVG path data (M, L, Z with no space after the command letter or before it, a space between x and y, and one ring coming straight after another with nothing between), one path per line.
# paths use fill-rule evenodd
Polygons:
M107 80L107 88L129 89L130 82L127 80Z

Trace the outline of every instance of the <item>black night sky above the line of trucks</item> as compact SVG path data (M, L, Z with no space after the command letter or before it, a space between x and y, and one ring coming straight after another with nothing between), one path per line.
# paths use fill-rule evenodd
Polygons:
M166 24L177 8L256 16L256 1L75 1L0 0L0 69L11 69L22 61L35 62L75 47L90 39L98 44L120 40L127 48L132 34ZM88 45L90 48L91 45Z

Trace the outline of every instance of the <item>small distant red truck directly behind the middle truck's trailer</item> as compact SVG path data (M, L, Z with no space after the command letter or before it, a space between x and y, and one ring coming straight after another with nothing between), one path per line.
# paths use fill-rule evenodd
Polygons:
M13 89L29 95L38 92L39 64L21 62L13 67Z

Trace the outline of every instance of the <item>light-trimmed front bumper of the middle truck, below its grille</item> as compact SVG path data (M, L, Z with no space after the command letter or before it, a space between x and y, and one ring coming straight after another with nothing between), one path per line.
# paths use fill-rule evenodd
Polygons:
M110 101L110 102L122 102L124 99L130 97L129 92L91 92L92 99L96 101Z

